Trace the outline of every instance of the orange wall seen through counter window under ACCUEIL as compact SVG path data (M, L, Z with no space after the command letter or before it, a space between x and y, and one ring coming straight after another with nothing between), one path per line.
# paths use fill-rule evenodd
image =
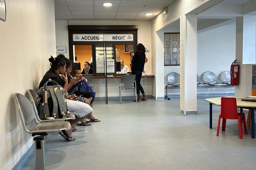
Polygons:
M81 70L84 68L84 62L90 62L92 54L92 45L75 45L75 54L77 62L81 63Z

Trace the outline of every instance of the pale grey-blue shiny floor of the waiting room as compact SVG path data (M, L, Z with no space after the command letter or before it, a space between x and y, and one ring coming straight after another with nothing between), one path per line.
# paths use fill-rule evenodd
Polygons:
M179 99L137 104L125 99L97 101L93 114L102 122L78 126L74 142L59 135L45 145L47 170L255 170L256 139L239 139L236 120L216 135L220 107L198 98L198 115L182 116ZM34 155L22 169L34 169Z

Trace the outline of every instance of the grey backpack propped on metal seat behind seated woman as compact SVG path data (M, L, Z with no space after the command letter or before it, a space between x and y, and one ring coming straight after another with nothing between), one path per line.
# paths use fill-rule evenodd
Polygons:
M54 85L47 85L49 82ZM49 79L37 93L40 99L37 107L40 119L59 119L70 114L67 111L66 92L54 80Z

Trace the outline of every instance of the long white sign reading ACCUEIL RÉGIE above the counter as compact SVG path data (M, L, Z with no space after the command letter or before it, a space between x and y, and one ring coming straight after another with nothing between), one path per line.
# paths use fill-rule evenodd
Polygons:
M73 41L133 41L133 34L73 34Z

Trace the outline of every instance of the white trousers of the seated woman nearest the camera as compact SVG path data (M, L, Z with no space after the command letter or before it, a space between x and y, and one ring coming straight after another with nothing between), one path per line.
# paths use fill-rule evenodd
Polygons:
M91 108L90 105L84 102L74 101L70 99L66 99L66 100L67 100L67 110L74 113L74 115L79 118L84 117L93 111L93 108Z

